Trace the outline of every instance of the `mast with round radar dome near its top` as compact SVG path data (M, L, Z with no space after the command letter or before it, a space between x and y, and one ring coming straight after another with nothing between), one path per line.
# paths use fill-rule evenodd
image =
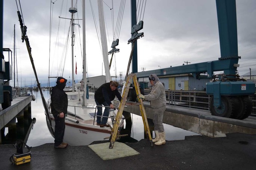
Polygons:
M68 10L71 13L71 32L72 32L72 37L71 37L71 49L72 49L72 92L75 91L75 86L74 86L74 13L77 12L77 9L73 7L73 0L71 0L71 8Z

